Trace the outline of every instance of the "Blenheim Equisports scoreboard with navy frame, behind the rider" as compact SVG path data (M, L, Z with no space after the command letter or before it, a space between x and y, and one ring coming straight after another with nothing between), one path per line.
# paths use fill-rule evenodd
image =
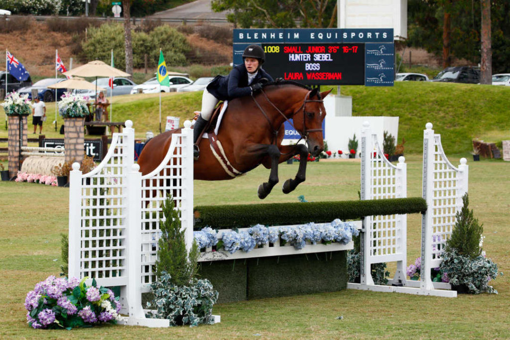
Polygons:
M234 64L259 44L263 68L306 85L393 86L393 29L236 29Z

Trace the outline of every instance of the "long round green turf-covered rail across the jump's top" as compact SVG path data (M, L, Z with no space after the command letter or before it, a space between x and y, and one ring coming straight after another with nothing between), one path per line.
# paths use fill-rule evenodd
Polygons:
M327 223L337 218L357 220L365 216L425 213L427 203L421 197L377 200L198 205L195 207L195 229L243 228L256 224L293 225L309 222Z

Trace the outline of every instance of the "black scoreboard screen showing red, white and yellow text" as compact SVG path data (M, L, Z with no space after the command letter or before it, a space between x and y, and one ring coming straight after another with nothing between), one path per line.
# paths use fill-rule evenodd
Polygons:
M364 85L364 43L262 43L273 79L307 85Z

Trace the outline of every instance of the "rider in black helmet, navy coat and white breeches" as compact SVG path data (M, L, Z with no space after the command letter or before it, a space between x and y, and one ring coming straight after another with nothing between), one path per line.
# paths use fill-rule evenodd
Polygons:
M198 159L200 151L196 141L220 100L230 100L237 97L251 95L259 91L262 84L258 81L266 78L269 82L273 78L262 69L265 61L264 50L259 45L249 45L243 53L243 64L237 65L227 76L217 75L203 90L202 111L193 127L193 157Z

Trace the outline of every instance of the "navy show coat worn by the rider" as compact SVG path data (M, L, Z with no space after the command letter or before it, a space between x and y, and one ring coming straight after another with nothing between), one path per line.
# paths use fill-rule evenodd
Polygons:
M267 78L270 82L273 81L269 73L259 68L259 72L251 84L257 83L261 78ZM217 75L209 83L207 90L219 100L230 100L250 95L251 88L248 85L248 71L244 64L239 64L227 76Z

